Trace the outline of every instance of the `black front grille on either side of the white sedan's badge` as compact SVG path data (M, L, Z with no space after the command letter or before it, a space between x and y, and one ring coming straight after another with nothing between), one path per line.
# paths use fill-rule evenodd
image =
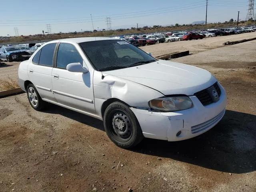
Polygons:
M220 97L221 91L220 91L220 88L218 86L218 83L217 82L214 83L213 86L216 89L216 91L217 91L217 93ZM202 103L203 106L210 105L214 102L214 100L212 99L212 96L208 92L208 88L204 89L202 91L196 92L194 94L194 96L196 96L198 98L198 100L200 100L200 102Z

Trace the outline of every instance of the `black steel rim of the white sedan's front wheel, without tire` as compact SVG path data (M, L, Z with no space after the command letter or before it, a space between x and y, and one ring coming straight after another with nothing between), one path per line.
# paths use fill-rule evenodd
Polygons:
M132 134L132 125L126 114L118 112L114 114L112 119L112 127L114 132L123 139L127 139Z

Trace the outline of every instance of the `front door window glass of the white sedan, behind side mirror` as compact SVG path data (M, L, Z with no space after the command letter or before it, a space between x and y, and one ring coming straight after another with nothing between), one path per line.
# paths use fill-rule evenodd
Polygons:
M57 54L57 67L65 68L70 63L83 64L83 59L72 44L61 43Z

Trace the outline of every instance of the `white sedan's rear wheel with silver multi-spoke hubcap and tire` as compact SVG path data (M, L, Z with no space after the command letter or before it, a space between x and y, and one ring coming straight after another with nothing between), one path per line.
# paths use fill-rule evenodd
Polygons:
M39 95L39 93L37 92L35 86L33 84L28 84L27 86L27 97L28 97L28 102L30 103L30 105L32 106L32 108L34 110L37 110L37 111L40 111L42 110L45 105L46 105L46 102L42 100L41 96ZM34 92L32 91L34 90ZM33 96L31 96L30 93L34 93ZM32 102L32 100L34 102ZM37 102L35 102L35 100Z

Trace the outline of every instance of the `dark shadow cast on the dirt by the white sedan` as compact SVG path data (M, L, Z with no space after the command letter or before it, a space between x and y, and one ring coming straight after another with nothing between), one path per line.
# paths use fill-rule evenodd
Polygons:
M104 131L95 118L50 104L46 113L60 114ZM256 116L226 110L224 118L208 132L184 141L167 142L144 138L133 152L194 164L229 173L256 170Z

